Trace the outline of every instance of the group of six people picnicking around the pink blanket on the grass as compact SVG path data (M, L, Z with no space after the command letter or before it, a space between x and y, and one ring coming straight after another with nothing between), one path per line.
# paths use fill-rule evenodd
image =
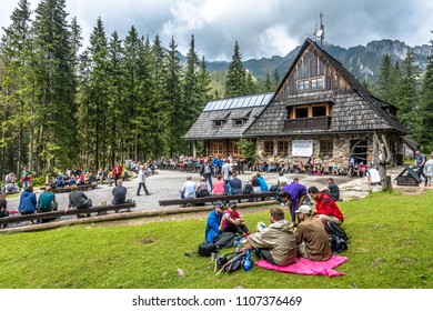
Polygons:
M291 184L294 184L293 189L282 190L278 194L282 205L289 207L291 222L285 219L283 208L274 207L270 210L271 223L264 228L258 225L256 232L250 233L244 219L236 211L235 203L224 204L218 201L208 217L205 241L213 243L216 250L220 250L232 247L234 237L239 234L245 238L240 251L253 250L259 258L274 265L292 264L296 257L313 261L329 260L332 249L324 223L332 221L340 225L344 217L328 192L311 187L306 193L302 184L295 182ZM314 200L314 208L300 204L302 200L299 200L299 195L306 194ZM296 208L293 209L293 205ZM296 221L295 215L298 215Z

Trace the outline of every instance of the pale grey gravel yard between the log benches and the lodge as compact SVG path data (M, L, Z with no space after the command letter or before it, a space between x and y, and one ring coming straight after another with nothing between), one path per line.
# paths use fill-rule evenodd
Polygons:
M401 172L402 168L394 168L389 170L389 173L392 177L392 180ZM144 211L144 210L157 210L157 209L172 209L173 207L160 207L159 200L168 200L168 199L178 199L180 198L180 190L182 189L182 184L185 181L187 175L185 172L179 171L159 171L158 174L154 174L147 179L148 190L151 195L145 195L143 190L141 195L135 195L138 188L138 179L131 179L130 181L124 181L123 185L128 189L128 199L132 199L137 202L137 208L134 211ZM198 173L191 173L192 180L194 182L199 181ZM272 184L276 184L278 173L263 173L262 174L266 180L268 184L271 187ZM238 175L243 183L245 183L251 178L251 172L246 172L245 174ZM308 174L286 174L289 180L292 180L294 177L300 179L300 182L305 184L306 188L311 185L315 185L319 189L326 184L326 175L315 177ZM348 178L348 177L334 177L334 181L340 185L341 195L343 200L350 200L353 198L363 198L367 195L369 189L366 187L365 178ZM395 181L393 181L393 187L395 185ZM421 188L421 187L420 187ZM375 187L373 191L379 191L380 187ZM105 201L108 203L111 202L112 199L112 187L107 184L98 185L97 189L85 191L85 194L92 199L93 205L98 205L101 201ZM41 190L34 191L37 197L41 193ZM59 202L59 209L63 210L68 205L68 195L69 193L57 193L56 198ZM19 197L9 198L8 199L8 209L18 210Z

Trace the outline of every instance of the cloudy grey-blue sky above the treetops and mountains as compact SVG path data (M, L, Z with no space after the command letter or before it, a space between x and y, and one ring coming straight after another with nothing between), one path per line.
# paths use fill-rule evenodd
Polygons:
M10 24L18 0L0 0L0 27ZM30 0L34 10L39 0ZM426 44L433 39L432 0L66 0L88 43L98 17L105 34L123 39L131 26L164 47L171 37L185 54L191 36L199 56L230 60L238 40L242 59L285 56L302 44L323 13L325 41L344 48L372 40ZM1 30L2 33L2 30Z

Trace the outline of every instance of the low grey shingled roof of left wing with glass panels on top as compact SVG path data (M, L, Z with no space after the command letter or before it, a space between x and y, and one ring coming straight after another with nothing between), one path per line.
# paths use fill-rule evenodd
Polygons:
M183 137L187 140L241 138L273 97L272 92L213 100ZM242 120L242 124L235 124ZM221 121L215 127L215 121Z

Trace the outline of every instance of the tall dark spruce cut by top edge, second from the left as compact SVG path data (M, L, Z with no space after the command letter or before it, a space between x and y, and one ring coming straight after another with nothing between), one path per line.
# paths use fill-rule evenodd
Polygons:
M42 0L36 10L36 123L38 167L75 162L75 83L64 0ZM64 127L68 124L68 127ZM61 130L60 130L61 129ZM40 171L40 170L39 170Z

